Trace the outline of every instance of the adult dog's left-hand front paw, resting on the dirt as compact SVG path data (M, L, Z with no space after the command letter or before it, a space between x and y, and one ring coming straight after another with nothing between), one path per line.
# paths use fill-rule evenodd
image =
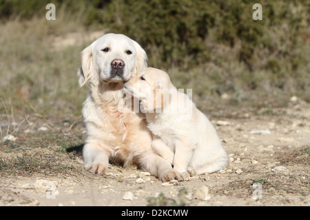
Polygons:
M83 147L83 161L92 173L105 173L109 166L109 154L98 144L87 143Z

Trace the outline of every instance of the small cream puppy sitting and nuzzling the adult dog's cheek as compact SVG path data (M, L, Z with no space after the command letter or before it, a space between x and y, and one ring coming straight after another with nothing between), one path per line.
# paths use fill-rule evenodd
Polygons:
M141 101L152 147L179 173L213 173L227 164L216 129L186 94L179 92L167 73L147 68L124 84ZM193 172L194 171L194 172Z

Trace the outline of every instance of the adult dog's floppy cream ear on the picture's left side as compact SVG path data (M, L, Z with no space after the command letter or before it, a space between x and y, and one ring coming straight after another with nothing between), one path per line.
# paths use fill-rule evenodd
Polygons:
M82 67L77 72L79 85L83 87L92 77L94 77L94 61L92 58L92 45L86 47L81 52Z

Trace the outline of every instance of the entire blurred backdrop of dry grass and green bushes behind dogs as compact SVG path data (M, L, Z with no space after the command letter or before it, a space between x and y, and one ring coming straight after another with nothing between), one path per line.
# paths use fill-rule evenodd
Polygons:
M55 21L45 19L48 3ZM140 43L148 65L192 88L203 111L310 102L310 1L0 0L0 21L0 114L81 115L79 52L99 30Z

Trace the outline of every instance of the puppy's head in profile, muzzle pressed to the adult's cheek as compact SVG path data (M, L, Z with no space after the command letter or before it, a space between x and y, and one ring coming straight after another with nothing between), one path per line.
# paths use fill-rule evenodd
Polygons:
M143 69L138 76L132 77L124 83L124 88L138 98L143 112L163 109L169 102L170 89L175 89L166 72L152 67Z

